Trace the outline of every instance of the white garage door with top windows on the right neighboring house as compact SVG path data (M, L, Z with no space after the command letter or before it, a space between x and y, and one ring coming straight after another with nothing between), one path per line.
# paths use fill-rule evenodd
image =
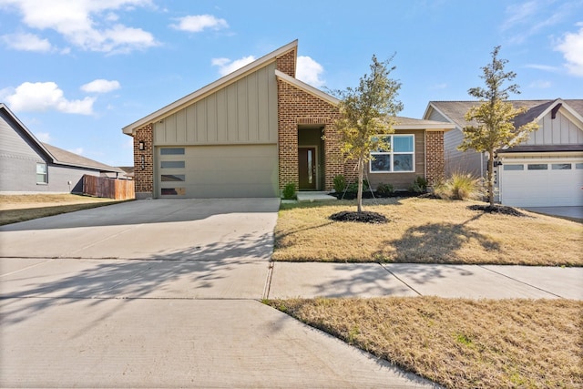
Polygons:
M515 207L583 205L583 163L505 162L500 171L502 204Z

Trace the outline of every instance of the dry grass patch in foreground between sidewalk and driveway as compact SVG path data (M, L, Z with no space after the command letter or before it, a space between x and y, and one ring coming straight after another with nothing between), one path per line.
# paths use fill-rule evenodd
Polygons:
M390 297L269 303L449 388L583 385L583 302Z

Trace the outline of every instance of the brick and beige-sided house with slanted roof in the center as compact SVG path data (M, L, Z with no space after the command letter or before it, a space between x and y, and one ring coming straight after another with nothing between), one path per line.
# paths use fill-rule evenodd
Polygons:
M354 180L333 127L338 100L295 78L298 42L140 118L134 138L136 198L280 197L332 190ZM371 183L407 188L417 176L444 175L443 137L455 126L398 118L392 151L377 153Z

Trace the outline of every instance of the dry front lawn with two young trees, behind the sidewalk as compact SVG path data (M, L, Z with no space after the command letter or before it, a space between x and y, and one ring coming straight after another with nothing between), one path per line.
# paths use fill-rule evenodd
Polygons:
M274 261L388 261L582 266L583 225L524 211L527 218L467 210L473 201L377 200L365 210L387 224L332 221L353 202L283 204Z

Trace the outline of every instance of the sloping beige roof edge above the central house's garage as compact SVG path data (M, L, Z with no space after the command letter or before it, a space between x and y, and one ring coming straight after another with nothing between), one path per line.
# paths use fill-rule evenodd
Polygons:
M245 67L240 67L240 69L235 70L234 72L228 74L225 77L221 77L218 80L210 83L206 87L201 87L199 90L196 90L189 95L179 98L175 102L169 104L166 107L162 107L159 110L152 112L148 116L144 118L140 118L139 120L133 122L132 124L122 128L124 134L132 135L134 130L140 128L141 126L151 123L153 121L161 120L162 118L166 118L169 115L179 111L183 107L189 106L190 104L196 102L197 100L209 96L211 93L215 92L216 90L227 87L230 84L234 83L235 81L239 80L242 77L249 75L250 73L254 72L255 70L259 69L260 67L264 67L271 62L274 62L279 56L289 52L290 50L297 48L298 40L294 40L285 46L281 46L277 50L272 51L270 54L265 56L261 56L261 58L251 62L251 64L246 65Z

